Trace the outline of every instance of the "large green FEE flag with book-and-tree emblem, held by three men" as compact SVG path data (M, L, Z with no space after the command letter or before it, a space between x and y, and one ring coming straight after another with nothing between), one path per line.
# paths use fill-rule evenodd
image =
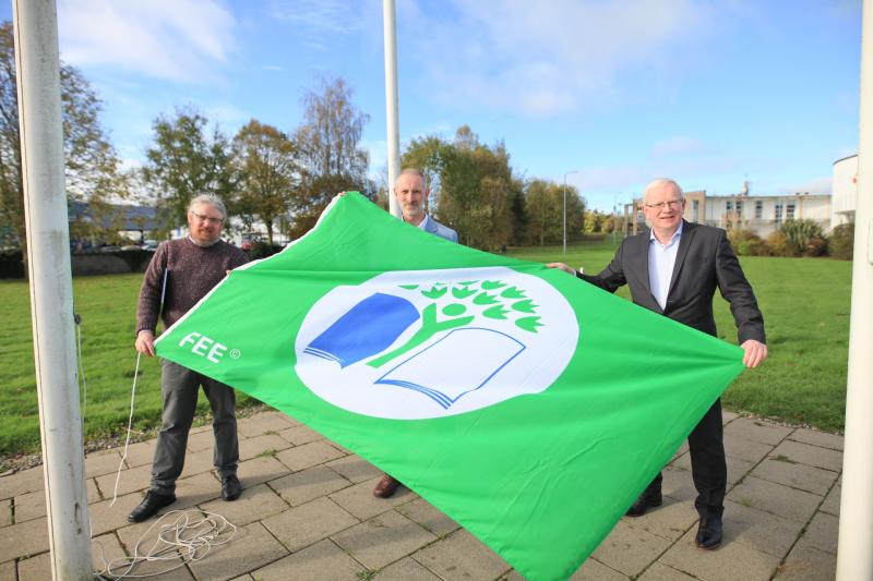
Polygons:
M157 353L391 473L530 580L570 577L743 368L736 346L356 193Z

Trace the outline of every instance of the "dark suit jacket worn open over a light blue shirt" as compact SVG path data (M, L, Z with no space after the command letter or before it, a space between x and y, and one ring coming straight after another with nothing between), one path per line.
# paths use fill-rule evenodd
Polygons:
M730 303L740 344L746 339L765 342L764 317L725 230L683 222L667 307L663 310L649 288L648 245L648 230L629 237L599 275L579 275L579 278L609 292L629 285L631 296L639 306L709 335L716 335L713 296L718 288Z

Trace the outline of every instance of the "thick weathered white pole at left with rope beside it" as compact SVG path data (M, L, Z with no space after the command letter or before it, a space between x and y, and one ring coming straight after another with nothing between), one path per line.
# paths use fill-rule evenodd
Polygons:
M22 180L51 574L92 579L55 0L14 0Z

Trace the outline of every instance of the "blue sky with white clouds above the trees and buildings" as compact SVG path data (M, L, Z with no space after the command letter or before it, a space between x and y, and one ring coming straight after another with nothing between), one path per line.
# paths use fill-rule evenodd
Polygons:
M9 2L3 16L11 17ZM385 169L380 0L58 0L61 58L105 101L121 157L193 105L284 131L342 76ZM516 172L609 209L646 182L826 193L857 153L860 0L397 0L400 140L466 123Z

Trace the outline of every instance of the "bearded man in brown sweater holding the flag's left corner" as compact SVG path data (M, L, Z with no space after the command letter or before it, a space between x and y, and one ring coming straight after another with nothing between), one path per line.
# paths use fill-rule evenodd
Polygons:
M157 319L167 328L208 293L226 274L246 264L248 256L220 240L227 211L220 199L200 195L188 206L189 234L158 246L145 271L136 308L136 351L155 355ZM210 400L215 434L214 463L222 479L222 497L236 500L242 492L237 479L236 396L234 389L170 361L162 361L163 425L152 463L152 485L128 516L131 522L152 518L176 501L176 479L184 465L188 432L194 419L198 390Z

